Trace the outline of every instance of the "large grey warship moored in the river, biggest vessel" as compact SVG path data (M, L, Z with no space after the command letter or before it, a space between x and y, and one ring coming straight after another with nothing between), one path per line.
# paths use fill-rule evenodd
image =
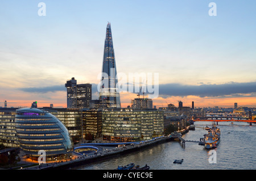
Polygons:
M204 136L204 147L206 149L216 148L220 143L220 129L213 123L213 127L209 129L208 134Z

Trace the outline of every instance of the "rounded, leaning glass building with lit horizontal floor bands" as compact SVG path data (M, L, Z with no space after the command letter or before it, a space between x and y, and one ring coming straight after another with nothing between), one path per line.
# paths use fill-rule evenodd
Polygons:
M31 159L38 159L39 150L46 151L46 161L67 159L72 155L73 142L67 128L47 111L16 110L15 127L20 147Z

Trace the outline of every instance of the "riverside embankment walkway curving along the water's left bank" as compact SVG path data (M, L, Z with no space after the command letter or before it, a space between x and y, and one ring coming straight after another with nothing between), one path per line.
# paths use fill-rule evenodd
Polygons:
M83 163L90 163L93 161L98 161L101 159L117 156L118 154L136 151L138 149L143 148L144 146L150 146L162 141L168 141L170 140L170 138L171 138L171 135L161 136L161 137L153 138L152 140L148 140L148 141L134 142L134 144L115 147L113 149L102 149L101 151L98 151L96 153L90 153L90 154L84 154L84 155L80 155L74 152L73 154L76 155L76 156L75 155L73 156L74 159L60 161L60 162L53 162L53 163L43 163L38 166L27 167L26 170L46 170L46 169L63 169L63 168L67 169L69 167L78 166Z

